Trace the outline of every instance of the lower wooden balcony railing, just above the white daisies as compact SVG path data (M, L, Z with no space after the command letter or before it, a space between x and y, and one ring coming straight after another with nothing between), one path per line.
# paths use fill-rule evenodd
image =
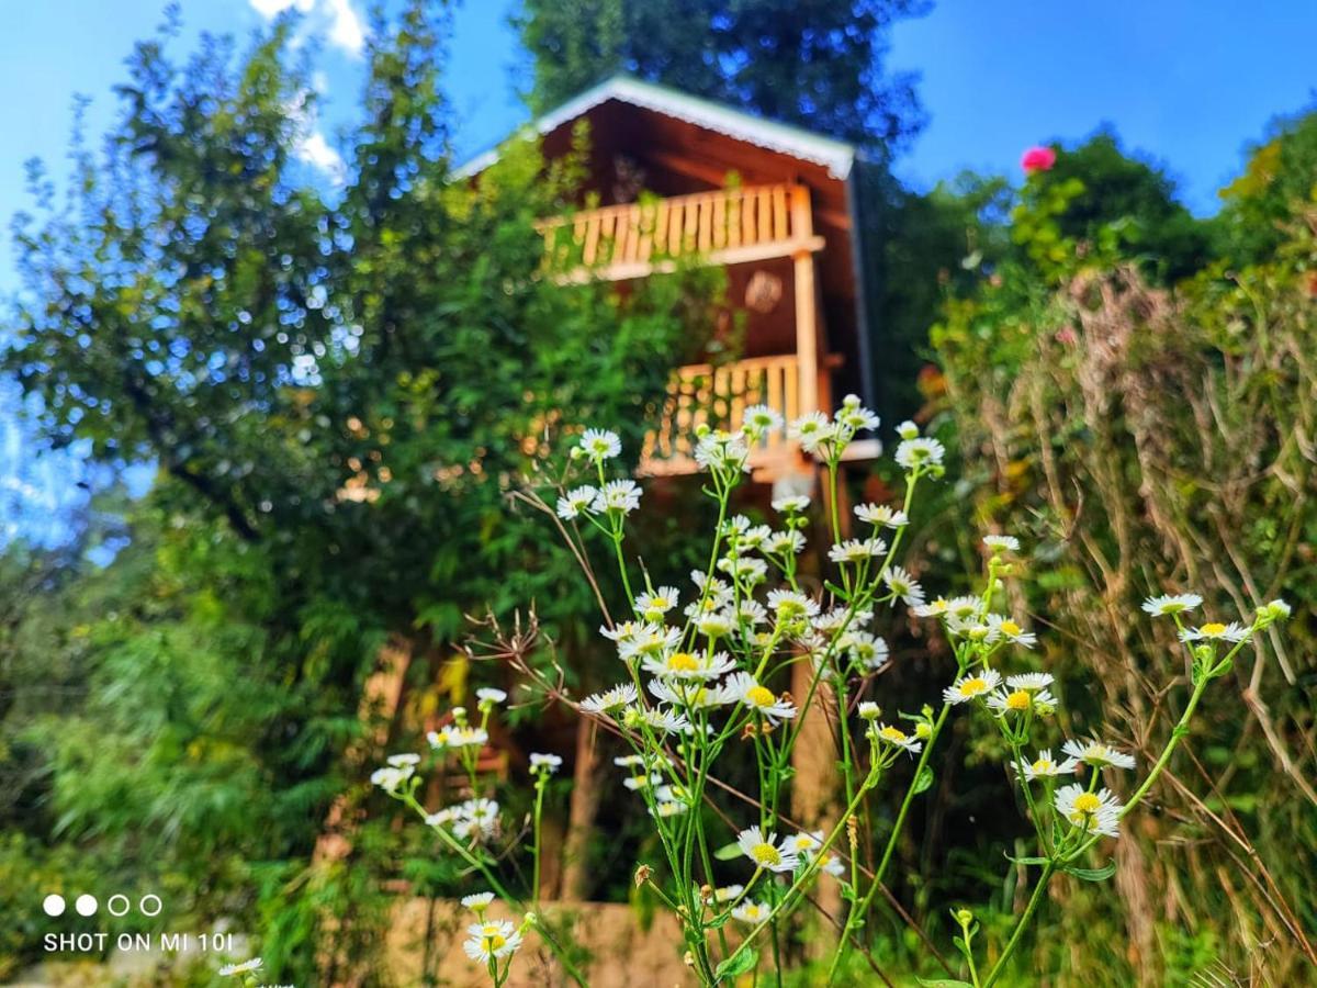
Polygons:
M739 424L751 404L766 404L784 420L781 428L764 436L751 451L751 465L763 466L786 456L788 423L807 408L799 402L799 362L795 354L757 357L724 366L697 364L673 374L658 427L645 440L640 472L645 474L693 473L694 431L707 423L712 428Z

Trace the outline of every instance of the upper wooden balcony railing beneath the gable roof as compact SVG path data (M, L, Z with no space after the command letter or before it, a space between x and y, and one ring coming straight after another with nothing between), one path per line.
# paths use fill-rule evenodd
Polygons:
M547 270L560 281L620 281L682 258L744 263L819 250L805 186L774 184L582 209L543 220Z

